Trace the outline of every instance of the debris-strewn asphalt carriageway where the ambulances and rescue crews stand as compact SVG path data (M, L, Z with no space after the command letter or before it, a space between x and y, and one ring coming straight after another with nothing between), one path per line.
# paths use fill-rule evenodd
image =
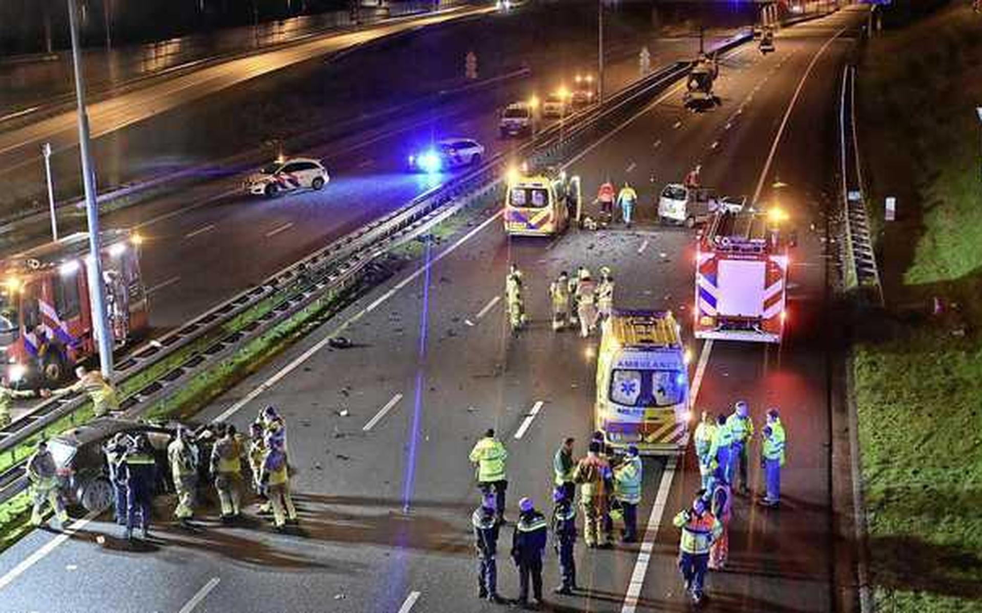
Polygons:
M785 505L765 511L748 500L736 501L732 566L711 576L707 610L839 606L824 332L830 325L825 296L831 264L824 255L822 213L829 203L822 192L834 185L836 78L853 44L851 28L861 20L859 10L846 9L788 28L777 39L777 52L766 57L753 45L740 48L722 62L720 108L692 115L682 108L679 88L673 88L577 154L568 167L583 177L587 195L606 176L632 181L641 194L641 217L650 222L656 190L701 163L704 183L761 203L780 199L799 228L785 344L780 349L693 345L699 356L692 389L697 409L721 411L742 398L750 402L759 427L764 411L778 406L790 440ZM772 185L779 178L787 187L776 193ZM370 176L362 180L377 182ZM177 225L166 236L200 239L196 249L213 250L217 262L228 252L218 243L226 233L249 228L252 236L269 235L291 223L278 216L279 207L306 207L304 227L317 219L316 202L284 198L255 204L229 228L222 226L222 206L202 205L195 212L210 216L193 220L173 215L167 219ZM808 231L811 223L819 232ZM214 228L206 229L208 224ZM161 235L163 244L164 233L147 234ZM267 238L281 234L287 231ZM284 239L300 242L296 235ZM153 249L151 242L148 252ZM672 308L684 321L692 254L690 233L648 223L630 231L573 232L556 242L509 241L500 218L491 214L449 246L427 251L423 261L201 415L245 427L263 406L280 408L289 424L292 463L299 469L297 533L277 534L261 519L223 527L213 521L213 508L205 511L202 529L188 533L175 527L165 506L169 501L161 499L154 537L128 547L104 518L86 518L67 538L37 531L0 555L0 609L494 610L475 599L469 513L478 497L467 451L486 427L498 429L510 450L514 516L520 496L538 505L549 501L551 458L561 439L575 436L579 455L592 430L597 339L551 332L549 280L579 264L593 270L610 265L618 306ZM239 259L242 265L245 258ZM525 271L532 319L518 338L508 333L502 312L510 261ZM233 274L232 268L216 274ZM185 281L182 277L168 289L176 292ZM193 291L188 292L182 300L191 300ZM339 331L355 341L354 348L327 346L324 339ZM539 402L541 410L529 419ZM756 452L754 447L751 455ZM644 542L610 551L579 546L578 583L586 589L573 597L549 597L553 610L688 608L675 567L678 535L670 520L691 500L693 468L691 456L646 459ZM758 473L754 465L755 483ZM654 504L656 498L664 508ZM502 592L514 595L507 550L503 538ZM546 578L547 585L557 580L553 556Z

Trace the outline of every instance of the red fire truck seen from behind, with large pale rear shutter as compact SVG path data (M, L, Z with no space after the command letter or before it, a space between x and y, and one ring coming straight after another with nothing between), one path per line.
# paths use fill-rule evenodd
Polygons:
M696 338L781 342L790 263L783 218L772 209L710 219L695 254Z

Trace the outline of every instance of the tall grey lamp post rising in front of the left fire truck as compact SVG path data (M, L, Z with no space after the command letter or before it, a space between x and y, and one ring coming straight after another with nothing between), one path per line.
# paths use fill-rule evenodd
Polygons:
M102 282L102 249L99 236L99 209L95 199L95 171L88 142L88 115L85 113L85 84L82 52L79 49L79 16L76 0L68 0L69 28L72 33L72 64L75 69L75 95L79 107L79 151L82 156L82 185L85 187L85 217L88 220L88 301L92 312L92 333L98 343L99 367L107 379L113 375L113 339L106 313L106 289Z

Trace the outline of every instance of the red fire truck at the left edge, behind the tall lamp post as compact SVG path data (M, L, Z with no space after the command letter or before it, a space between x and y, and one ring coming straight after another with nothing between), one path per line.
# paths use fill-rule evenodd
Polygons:
M102 233L106 308L116 347L149 324L139 243L139 235L129 230ZM0 261L0 349L9 383L58 383L77 362L97 353L88 301L90 261L85 233Z

